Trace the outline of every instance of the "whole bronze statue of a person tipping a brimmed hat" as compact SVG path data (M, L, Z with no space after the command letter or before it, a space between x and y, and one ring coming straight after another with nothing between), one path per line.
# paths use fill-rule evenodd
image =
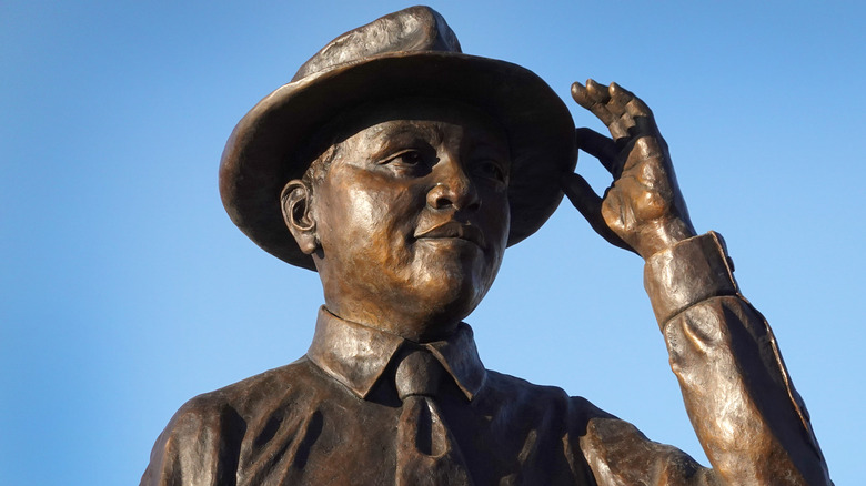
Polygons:
M716 233L696 235L664 139L615 83L572 87L612 138L578 129L534 73L461 53L432 9L350 31L235 128L232 221L319 272L299 361L198 396L143 485L826 485L806 408ZM603 198L577 149L613 175ZM463 320L506 246L563 191L640 254L713 468L560 388L483 367Z

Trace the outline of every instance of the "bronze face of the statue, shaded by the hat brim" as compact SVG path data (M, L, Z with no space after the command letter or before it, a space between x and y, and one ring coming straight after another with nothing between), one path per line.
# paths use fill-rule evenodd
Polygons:
M415 101L360 119L313 190L326 305L404 337L435 337L477 306L502 262L507 141L463 105Z

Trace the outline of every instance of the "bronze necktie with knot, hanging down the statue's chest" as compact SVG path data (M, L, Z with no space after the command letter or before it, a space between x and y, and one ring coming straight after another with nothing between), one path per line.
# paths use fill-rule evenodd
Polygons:
M472 484L434 399L442 372L425 350L409 352L397 365L395 384L403 401L397 423L397 486Z

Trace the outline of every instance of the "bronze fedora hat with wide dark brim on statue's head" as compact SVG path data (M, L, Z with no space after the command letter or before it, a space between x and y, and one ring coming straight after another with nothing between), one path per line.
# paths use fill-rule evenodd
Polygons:
M532 71L464 54L442 16L412 7L338 37L241 119L220 162L220 195L234 224L274 256L315 270L285 226L280 193L310 166L300 154L323 125L395 97L460 101L502 124L512 155L508 246L553 214L560 174L577 160L568 109Z

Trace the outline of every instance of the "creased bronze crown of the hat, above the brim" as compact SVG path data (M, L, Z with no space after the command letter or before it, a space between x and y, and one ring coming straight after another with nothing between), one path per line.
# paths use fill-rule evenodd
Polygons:
M391 52L462 52L445 19L430 7L410 7L350 30L304 62L292 81Z

